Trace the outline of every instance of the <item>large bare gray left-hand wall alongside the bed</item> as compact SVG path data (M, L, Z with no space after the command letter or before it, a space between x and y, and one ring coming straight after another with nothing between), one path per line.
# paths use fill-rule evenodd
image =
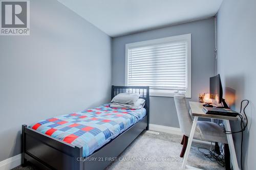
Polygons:
M0 36L0 161L22 124L110 100L111 38L57 1L30 6L30 36Z

